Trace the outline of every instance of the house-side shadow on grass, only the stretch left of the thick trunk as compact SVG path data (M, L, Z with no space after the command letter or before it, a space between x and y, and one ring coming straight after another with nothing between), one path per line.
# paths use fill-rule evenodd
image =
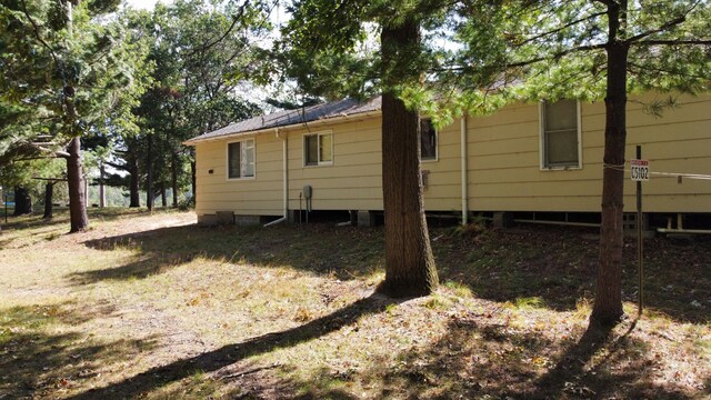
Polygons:
M321 224L300 227L182 226L90 240L87 247L136 250L118 267L74 273L74 282L146 278L196 258L228 260L260 267L289 266L349 280L372 273L382 264L380 230Z

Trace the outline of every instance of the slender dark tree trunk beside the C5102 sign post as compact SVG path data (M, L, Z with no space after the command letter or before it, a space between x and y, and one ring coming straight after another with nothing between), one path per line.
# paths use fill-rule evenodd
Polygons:
M624 37L627 1L609 6L608 88L602 176L600 264L591 326L612 327L622 310L622 212L624 209L624 146L627 142L627 62Z

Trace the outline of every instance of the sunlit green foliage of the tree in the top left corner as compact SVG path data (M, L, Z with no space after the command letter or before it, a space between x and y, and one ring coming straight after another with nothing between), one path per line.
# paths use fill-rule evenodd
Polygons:
M132 40L120 21L101 19L117 6L116 0L73 8L49 0L2 2L0 176L6 181L27 182L30 170L57 173L31 159L54 157L72 137L136 131L131 109L150 66L144 43Z

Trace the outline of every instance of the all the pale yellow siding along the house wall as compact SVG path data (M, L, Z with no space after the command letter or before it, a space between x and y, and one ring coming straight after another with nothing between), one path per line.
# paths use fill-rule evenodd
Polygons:
M650 101L653 96L642 98ZM711 173L711 98L681 97L662 118L630 103L627 158L642 144L653 172ZM538 104L515 104L493 116L468 118L468 193L471 211L600 210L604 104L581 106L581 169L541 170ZM303 134L333 133L333 162L303 166ZM313 188L314 210L382 210L380 117L282 130L288 140L289 209L299 208L303 186ZM283 210L282 140L256 137L254 179L228 180L229 140L197 146L198 214L280 216ZM430 211L461 210L460 120L439 131L438 159L425 161ZM213 173L208 173L209 170ZM625 174L625 207L634 184ZM644 183L645 211L711 212L711 181L652 177ZM306 203L302 202L302 207Z

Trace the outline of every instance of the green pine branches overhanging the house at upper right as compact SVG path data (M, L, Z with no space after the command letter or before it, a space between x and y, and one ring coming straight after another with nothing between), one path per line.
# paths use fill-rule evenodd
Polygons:
M511 101L604 98L610 39L603 2L474 1L451 11L455 50L442 53L431 80L405 93L413 107L448 118L460 110L489 113ZM630 1L619 32L629 47L630 62L621 67L628 93L709 91L710 12L705 1Z

